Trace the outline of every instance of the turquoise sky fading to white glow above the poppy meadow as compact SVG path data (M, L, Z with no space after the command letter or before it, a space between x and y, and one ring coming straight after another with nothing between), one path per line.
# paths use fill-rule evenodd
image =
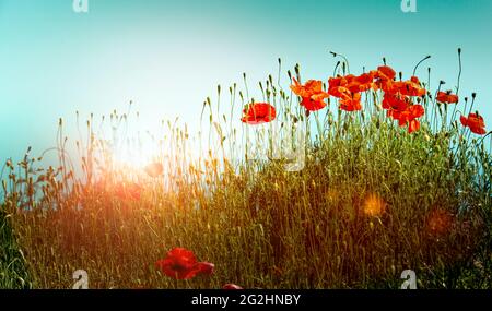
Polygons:
M461 95L478 93L477 109L492 128L490 0L0 0L0 159L54 146L57 120L75 110L107 115L136 103L145 125L179 116L196 124L216 84L263 80L301 63L303 75L326 80L344 53L351 70L388 63L410 74L433 68L456 85L456 49L464 49Z

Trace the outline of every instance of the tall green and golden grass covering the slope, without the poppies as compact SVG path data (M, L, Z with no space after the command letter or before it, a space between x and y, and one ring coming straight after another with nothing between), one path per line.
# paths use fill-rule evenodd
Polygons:
M269 81L262 94L282 107L279 116L303 120L295 97L273 92ZM234 110L236 86L230 91ZM194 142L169 125L162 149L171 152L161 155L168 174L161 178L114 166L93 121L89 143L80 143L78 178L60 128L61 169L37 171L37 159L24 159L5 182L4 213L38 288L70 288L80 268L91 288L399 288L408 268L420 288L491 288L491 154L485 140L424 100L435 118L412 134L385 117L377 96L367 96L363 113L331 107L309 116L316 127L306 125L305 168L292 172L282 160L234 156L244 136L211 100L203 106L210 129L201 133L211 142L208 155L189 157ZM119 118L127 119L112 120ZM138 182L140 200L118 198L121 182ZM371 216L371 207L382 211ZM1 240L15 246L4 225ZM214 263L214 274L162 275L154 263L175 247ZM5 255L8 282L26 277L19 251Z

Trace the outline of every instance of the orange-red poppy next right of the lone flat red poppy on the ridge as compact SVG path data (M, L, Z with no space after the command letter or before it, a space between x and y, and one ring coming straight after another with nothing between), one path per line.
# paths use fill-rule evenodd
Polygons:
M323 91L321 81L309 80L302 85L294 79L291 89L302 98L301 106L306 108L306 110L317 111L326 107L325 98L329 97L329 95Z

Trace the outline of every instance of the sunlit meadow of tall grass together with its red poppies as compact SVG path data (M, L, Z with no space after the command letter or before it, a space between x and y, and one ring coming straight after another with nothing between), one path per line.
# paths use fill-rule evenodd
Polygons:
M452 91L431 91L427 58L410 76L332 56L327 81L279 59L260 100L246 74L219 86L200 132L166 123L141 166L93 116L70 154L60 120L57 167L30 153L3 166L0 287L71 288L84 270L90 288L397 289L413 270L419 288L492 288L488 103L460 94L460 51Z

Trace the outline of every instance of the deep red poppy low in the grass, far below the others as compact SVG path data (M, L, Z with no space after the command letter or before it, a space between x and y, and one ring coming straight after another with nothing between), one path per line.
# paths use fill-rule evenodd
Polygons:
M155 266L165 275L176 279L189 279L198 274L210 275L214 267L212 263L197 262L194 252L184 248L168 251L167 256L159 260Z

